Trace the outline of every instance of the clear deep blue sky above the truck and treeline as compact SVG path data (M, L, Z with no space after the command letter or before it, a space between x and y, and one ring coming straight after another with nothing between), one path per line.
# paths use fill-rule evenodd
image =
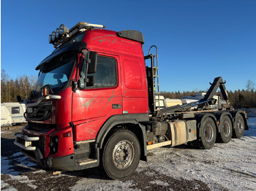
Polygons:
M37 76L54 50L49 34L80 21L142 32L144 55L158 47L159 90L207 90L215 77L227 90L256 83L255 0L1 0L1 70Z

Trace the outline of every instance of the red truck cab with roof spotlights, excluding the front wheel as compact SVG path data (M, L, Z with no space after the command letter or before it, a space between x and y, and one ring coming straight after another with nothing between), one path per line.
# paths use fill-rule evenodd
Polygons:
M36 68L39 77L26 100L28 125L15 141L45 167L74 171L99 165L99 150L114 127L143 134L138 124L148 120L143 34L103 27L61 25L49 36L56 50Z

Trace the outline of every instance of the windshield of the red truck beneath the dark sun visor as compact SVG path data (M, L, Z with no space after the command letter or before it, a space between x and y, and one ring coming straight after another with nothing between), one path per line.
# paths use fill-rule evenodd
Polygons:
M48 85L53 93L58 93L67 85L75 61L76 54L68 54L53 58L46 63L39 73L34 91L41 92L41 88Z

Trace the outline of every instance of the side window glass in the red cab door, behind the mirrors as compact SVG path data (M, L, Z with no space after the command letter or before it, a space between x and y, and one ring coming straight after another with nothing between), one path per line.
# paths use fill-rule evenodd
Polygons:
M85 65L82 67L82 71L85 74ZM94 76L95 87L114 87L116 86L116 60L114 58L108 58L105 56L98 56L97 71L95 74L88 74L88 76Z

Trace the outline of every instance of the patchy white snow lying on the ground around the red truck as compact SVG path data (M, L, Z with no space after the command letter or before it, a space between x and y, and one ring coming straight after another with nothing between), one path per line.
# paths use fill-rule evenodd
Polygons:
M148 162L140 162L136 174L153 177L148 186L160 184L169 186L170 190L173 185L164 179L154 179L154 176L159 177L156 173L170 179L204 182L211 190L256 190L256 114L249 114L249 117L249 130L244 132L241 139L231 139L228 144L217 143L212 149L206 150L193 149L186 145L153 149L148 153ZM34 168L36 164L21 152L10 157L1 156L1 176L10 177L1 179L1 190L16 190L8 184L10 179L26 184L31 190L37 190L38 180L31 179L33 176L21 175L16 170L17 165L30 168L31 174L45 174L44 170ZM70 190L138 190L134 187L136 178L113 181L101 176L84 176L83 171L76 174L81 178L75 180L74 185L69 187ZM54 177L58 179L65 176L70 174L62 173Z

